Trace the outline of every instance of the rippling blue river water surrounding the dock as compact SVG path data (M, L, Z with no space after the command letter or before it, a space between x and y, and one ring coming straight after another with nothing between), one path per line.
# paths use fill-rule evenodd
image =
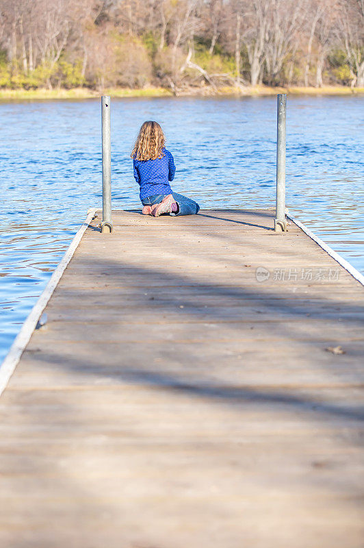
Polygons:
M100 104L0 103L0 362L92 206L101 206ZM201 208L274 206L276 98L112 100L113 208L139 207L129 154L164 127L172 188ZM364 272L364 97L289 97L287 206Z

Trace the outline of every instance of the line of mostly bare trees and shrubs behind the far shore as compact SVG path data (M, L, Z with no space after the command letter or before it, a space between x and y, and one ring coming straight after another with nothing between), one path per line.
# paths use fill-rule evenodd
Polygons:
M0 0L0 87L364 87L364 0Z

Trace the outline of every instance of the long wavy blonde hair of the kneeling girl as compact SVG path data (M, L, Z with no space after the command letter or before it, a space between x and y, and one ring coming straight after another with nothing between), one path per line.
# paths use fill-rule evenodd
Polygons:
M153 121L144 122L140 128L130 157L135 160L157 160L157 158L163 158L164 153L162 151L165 143L166 138L159 123Z

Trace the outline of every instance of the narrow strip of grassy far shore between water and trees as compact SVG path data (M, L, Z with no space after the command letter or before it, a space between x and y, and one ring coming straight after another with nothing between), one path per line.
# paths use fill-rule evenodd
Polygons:
M364 88L350 88L348 86L324 86L322 88L305 88L294 86L289 88L271 88L268 86L242 86L241 88L223 87L214 90L210 86L201 88L187 88L173 93L166 88L109 88L105 90L91 90L89 88L73 89L0 89L0 101L23 101L26 99L95 99L100 95L111 97L255 97L265 95L359 95L364 93Z

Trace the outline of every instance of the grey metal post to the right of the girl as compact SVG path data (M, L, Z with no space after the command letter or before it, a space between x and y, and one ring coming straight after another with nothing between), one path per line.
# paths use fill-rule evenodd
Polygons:
M285 220L285 114L287 95L277 95L277 173L276 173L276 219L274 230L287 231Z

